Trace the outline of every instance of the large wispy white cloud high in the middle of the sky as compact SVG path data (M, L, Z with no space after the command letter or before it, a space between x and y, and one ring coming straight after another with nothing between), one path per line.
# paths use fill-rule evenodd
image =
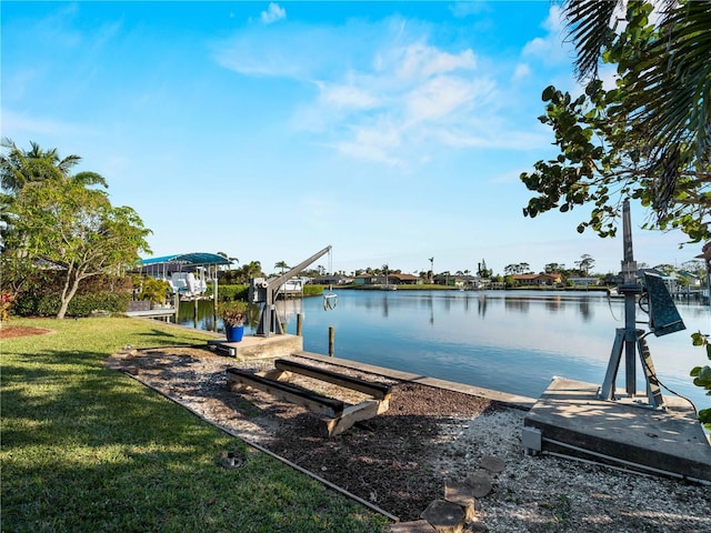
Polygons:
M560 27L559 10L550 13L552 31ZM511 77L529 76L528 62L489 68L493 61L483 58L484 71L473 49L435 46L431 34L430 26L400 17L340 27L250 27L219 43L216 57L241 74L316 87L312 97L297 91L291 127L352 159L407 169L442 150L550 144L511 125L517 91L523 90Z

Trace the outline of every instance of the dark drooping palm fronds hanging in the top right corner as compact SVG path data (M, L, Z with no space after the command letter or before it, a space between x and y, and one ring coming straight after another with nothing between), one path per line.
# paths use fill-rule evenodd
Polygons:
M598 77L601 54L613 42L615 11L627 3L564 2L580 79ZM630 3L629 9L640 6ZM643 9L638 17L651 11L651 4ZM628 91L620 112L650 148L652 168L661 169L653 205L658 214L673 205L680 168L689 153L699 161L711 160L711 2L664 0L661 16L658 37L643 43L641 57L621 60L619 69ZM701 177L702 184L709 180L708 174Z

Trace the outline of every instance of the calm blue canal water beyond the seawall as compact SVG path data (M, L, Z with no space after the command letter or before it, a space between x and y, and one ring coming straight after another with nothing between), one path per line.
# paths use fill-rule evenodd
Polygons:
M615 330L624 326L623 299L599 292L334 292L332 311L324 311L320 296L278 302L288 333L296 333L296 316L303 314L304 350L328 354L333 326L338 358L532 398L557 375L602 384ZM179 322L214 330L211 303L203 305L197 321L189 304ZM677 306L687 330L649 335L652 360L668 388L707 408L711 398L692 384L689 371L710 364L704 351L691 344L691 333L711 333L711 311L694 302ZM647 314L638 311L637 320L645 321ZM217 329L221 331L219 320ZM637 375L643 390L639 362ZM624 360L619 392L624 392L623 380Z

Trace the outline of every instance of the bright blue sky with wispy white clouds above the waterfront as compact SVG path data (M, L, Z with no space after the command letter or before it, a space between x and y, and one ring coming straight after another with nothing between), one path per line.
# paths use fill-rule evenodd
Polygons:
M2 137L81 155L153 255L619 270L588 210L522 214L519 174L554 153L541 92L578 87L547 0L0 6ZM699 253L632 217L638 261Z

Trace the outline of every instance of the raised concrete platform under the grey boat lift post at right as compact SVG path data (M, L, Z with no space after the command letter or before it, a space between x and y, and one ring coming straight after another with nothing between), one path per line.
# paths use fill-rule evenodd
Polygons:
M689 402L663 396L664 408L651 409L632 399L600 400L598 389L553 379L524 420L529 451L541 451L538 438L542 451L711 482L711 445Z

